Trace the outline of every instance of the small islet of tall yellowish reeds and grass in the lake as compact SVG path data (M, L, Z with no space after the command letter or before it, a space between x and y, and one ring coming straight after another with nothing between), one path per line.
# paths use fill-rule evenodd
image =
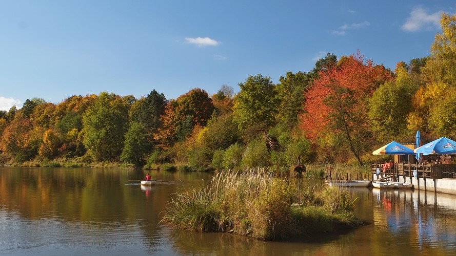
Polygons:
M362 226L354 216L355 200L335 187L303 188L299 178L227 172L199 190L174 194L162 221L194 231L282 240Z

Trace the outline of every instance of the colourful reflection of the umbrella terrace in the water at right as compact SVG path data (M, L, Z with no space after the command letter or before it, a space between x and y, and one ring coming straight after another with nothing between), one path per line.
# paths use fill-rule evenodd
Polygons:
M456 251L454 196L401 189L372 189L377 232L417 253ZM431 253L432 254L432 253Z

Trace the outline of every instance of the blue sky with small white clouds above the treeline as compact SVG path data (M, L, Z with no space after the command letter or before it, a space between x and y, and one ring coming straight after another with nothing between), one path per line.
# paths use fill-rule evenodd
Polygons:
M456 1L0 1L0 110L72 95L177 98L360 50L394 69L429 56Z

